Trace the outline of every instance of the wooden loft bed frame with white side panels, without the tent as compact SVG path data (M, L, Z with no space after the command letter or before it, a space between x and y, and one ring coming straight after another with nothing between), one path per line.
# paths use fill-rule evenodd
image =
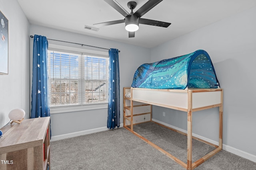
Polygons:
M212 157L214 154L222 150L222 114L223 114L223 90L221 88L216 89L185 89L185 90L175 90L175 89L147 89L147 88L124 88L125 92L130 89L130 116L126 116L125 102L124 102L124 127L134 133L134 135L140 137L142 140L146 141L152 147L158 149L160 152L166 154L169 158L176 161L182 165L187 170L192 170L206 161L208 158ZM129 100L125 98L124 100ZM133 131L133 102L142 102L145 104L156 105L161 107L167 107L171 109L176 109L180 111L186 111L188 113L188 131L187 134L176 129L172 129L165 125L162 125L168 129L174 130L183 135L187 135L187 163L182 162L172 154L166 152L164 149L158 147L154 143L148 141L146 138L142 137L138 133ZM152 107L152 106L151 106ZM204 109L210 109L213 107L219 107L219 145L214 145L202 139L192 136L192 112L200 111ZM126 125L126 119L130 121L129 125ZM150 117L150 121L151 117ZM156 122L154 122L156 123ZM157 123L161 125L160 123ZM216 147L210 153L206 154L202 158L192 162L192 138L207 143Z

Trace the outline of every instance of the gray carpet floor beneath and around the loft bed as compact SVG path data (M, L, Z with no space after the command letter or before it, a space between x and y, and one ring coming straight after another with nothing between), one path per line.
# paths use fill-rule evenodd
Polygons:
M134 131L186 162L186 136L152 122ZM192 140L192 161L214 147ZM185 170L123 127L50 143L51 170ZM225 150L195 170L256 170L256 163Z

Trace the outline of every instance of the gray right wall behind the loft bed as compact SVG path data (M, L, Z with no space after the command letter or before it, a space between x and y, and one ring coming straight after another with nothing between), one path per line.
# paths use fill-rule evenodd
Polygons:
M253 155L256 155L255 16L256 7L151 49L151 62L197 49L208 52L224 89L223 144ZM187 129L185 112L154 107L153 118ZM192 118L193 133L218 141L218 108L194 112Z

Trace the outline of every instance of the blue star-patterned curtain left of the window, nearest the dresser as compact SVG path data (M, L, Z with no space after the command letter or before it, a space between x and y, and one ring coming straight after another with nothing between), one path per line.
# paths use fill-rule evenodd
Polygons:
M31 117L50 116L48 101L48 41L46 37L34 35Z

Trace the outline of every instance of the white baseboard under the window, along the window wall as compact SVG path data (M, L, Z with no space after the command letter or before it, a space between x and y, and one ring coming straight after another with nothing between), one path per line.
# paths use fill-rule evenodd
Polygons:
M120 127L123 127L123 125L124 125L123 123L120 123ZM77 137L77 136L81 136L81 135L88 135L90 133L96 133L96 132L107 131L107 130L109 130L107 127L99 127L96 129L89 129L89 130L85 130L85 131L67 133L67 134L63 134L63 135L56 135L56 136L51 137L51 141L58 141L61 139Z

